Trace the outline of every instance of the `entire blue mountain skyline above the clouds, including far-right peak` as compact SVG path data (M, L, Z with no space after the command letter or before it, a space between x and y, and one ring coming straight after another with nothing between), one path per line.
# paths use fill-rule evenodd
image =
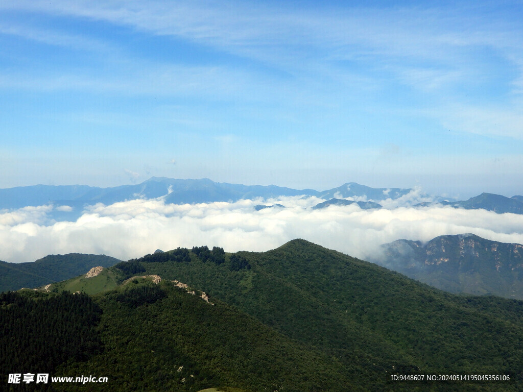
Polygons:
M203 179L172 179L152 177L137 185L122 185L112 188L98 188L84 185L48 186L35 185L0 189L0 210L18 209L26 206L52 204L55 209L52 217L57 221L74 220L81 215L86 205L103 203L105 205L134 199L164 198L166 203L194 204L210 202L235 202L242 199L271 199L283 196L315 196L327 201L317 205L323 208L328 205L353 204L357 202L362 209L379 208L381 205L365 204L380 203L386 200L400 200L413 192L411 188L370 188L356 182L326 191L313 189L291 189L274 185L242 185L226 182L214 182ZM418 203L417 207L432 205L450 205L464 209L485 209L496 213L523 214L523 196L516 195L507 198L492 193L482 193L466 201L451 201L441 197L422 195L432 202ZM408 198L407 198L408 199ZM410 205L411 200L404 204Z

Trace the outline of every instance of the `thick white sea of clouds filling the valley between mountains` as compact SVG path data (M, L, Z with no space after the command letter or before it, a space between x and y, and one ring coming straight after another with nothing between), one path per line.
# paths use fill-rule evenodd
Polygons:
M0 211L0 260L35 261L49 254L105 254L121 260L156 249L208 245L225 251L266 251L294 238L360 259L379 257L379 245L405 238L428 241L444 234L473 233L523 243L523 215L485 210L393 204L361 210L356 204L313 210L324 200L282 197L201 204L168 204L162 198L87 206L79 218L57 222L67 206L43 205ZM383 201L382 201L383 202ZM256 211L258 204L286 208Z

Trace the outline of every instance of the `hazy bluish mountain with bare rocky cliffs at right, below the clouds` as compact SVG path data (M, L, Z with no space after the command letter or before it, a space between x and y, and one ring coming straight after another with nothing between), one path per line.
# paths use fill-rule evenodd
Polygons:
M473 234L444 235L426 244L400 239L382 245L374 262L453 293L523 299L523 245Z

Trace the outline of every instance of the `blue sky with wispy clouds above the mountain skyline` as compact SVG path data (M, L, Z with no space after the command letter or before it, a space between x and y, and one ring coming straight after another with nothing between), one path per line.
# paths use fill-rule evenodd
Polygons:
M523 194L523 3L361 4L4 0L0 188Z

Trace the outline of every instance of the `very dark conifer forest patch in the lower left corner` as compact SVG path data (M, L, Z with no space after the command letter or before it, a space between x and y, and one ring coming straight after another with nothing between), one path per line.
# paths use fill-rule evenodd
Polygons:
M102 351L96 325L101 309L85 294L0 294L2 390L53 391L51 384L11 384L8 374L50 373L65 362L85 361Z

